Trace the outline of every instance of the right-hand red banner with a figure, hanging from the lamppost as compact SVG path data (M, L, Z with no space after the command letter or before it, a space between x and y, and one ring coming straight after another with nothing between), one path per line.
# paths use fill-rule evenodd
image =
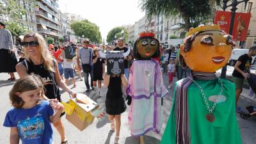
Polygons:
M245 41L249 28L251 13L236 13L233 28L233 40Z

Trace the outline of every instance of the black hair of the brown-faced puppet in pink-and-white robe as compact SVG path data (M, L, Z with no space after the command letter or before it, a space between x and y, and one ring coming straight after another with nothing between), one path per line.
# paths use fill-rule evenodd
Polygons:
M151 38L151 39L155 39L156 40L156 42L158 43L158 47L157 47L157 49L156 49L156 53L155 54L153 54L153 56L151 56L151 58L158 58L158 57L160 57L161 56L161 52L160 52L160 42L159 42L159 40L157 40L157 38L152 38L152 36L144 36L144 37L142 37L142 38L138 38L137 40L136 40L136 42L134 42L134 45L133 45L133 57L136 59L136 60L143 60L143 58L141 58L141 56L140 56L140 54L139 54L139 52L138 52L138 47L137 47L137 44L138 44L138 42L139 42L139 40L141 40L141 39L146 39L146 38Z

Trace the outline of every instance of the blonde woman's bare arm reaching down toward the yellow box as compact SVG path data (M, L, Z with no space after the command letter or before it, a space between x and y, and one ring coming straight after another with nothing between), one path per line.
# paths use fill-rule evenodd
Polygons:
M61 77L60 77L60 73L58 70L58 63L56 61L54 61L54 78L56 83L58 84L58 86L60 86L60 88L62 88L65 92L69 93L70 95L72 95L72 97L76 97L76 92L73 92L72 90L70 90L70 88L68 88L67 84L64 83L64 81L62 81Z

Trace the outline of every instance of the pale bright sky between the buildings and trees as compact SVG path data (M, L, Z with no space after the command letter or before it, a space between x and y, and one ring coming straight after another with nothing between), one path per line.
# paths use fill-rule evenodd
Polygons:
M61 12L76 13L97 24L102 38L116 26L134 24L145 14L139 0L59 0Z

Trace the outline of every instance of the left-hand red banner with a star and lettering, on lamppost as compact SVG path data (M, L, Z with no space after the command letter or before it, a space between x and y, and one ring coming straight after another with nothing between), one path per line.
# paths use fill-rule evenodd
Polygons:
M229 33L231 12L218 10L215 13L214 24L218 24L220 28Z

